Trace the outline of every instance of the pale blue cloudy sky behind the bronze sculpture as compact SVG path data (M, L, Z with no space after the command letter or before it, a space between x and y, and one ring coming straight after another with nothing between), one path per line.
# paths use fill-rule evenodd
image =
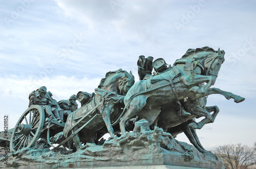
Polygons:
M255 1L0 1L0 130L28 107L28 95L46 86L56 100L93 92L108 71L132 71L139 55L173 65L188 48L225 50L216 88L242 103L218 105L214 124L197 130L202 145L256 142ZM178 140L189 143L184 134Z

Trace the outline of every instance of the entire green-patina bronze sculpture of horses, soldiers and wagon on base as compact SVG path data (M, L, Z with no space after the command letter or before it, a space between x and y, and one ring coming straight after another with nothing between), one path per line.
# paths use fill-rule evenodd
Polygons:
M62 159L70 163L74 161L69 156L72 152L76 153L77 158L82 158L81 153L86 155L87 160L81 161L95 161L84 166L103 166L101 160L118 163L113 166L121 166L131 160L137 161L134 165L139 165L143 159L144 163L152 165L159 163L158 158L163 158L159 164L196 167L200 159L202 164L197 167L223 168L218 156L203 148L196 129L213 123L220 111L216 105L206 106L208 95L220 94L226 99L234 99L236 103L245 99L211 88L224 62L224 54L224 50L207 46L188 49L173 66L166 65L162 58L153 62L153 57L141 55L137 62L140 81L134 83L132 72L119 69L106 73L95 93L80 91L69 100L59 102L52 98L52 93L47 92L46 87L40 87L30 94L29 108L11 131L13 159L23 161L23 156L28 159L27 152L34 152L34 145L45 149L35 153L36 156L49 154L49 145L54 147L53 144L58 144L51 151L61 151ZM155 72L152 72L153 68ZM81 103L80 108L77 108L76 99ZM199 117L204 119L196 122L195 118ZM175 141L174 137L181 132L186 134L196 149L191 151L188 145ZM111 135L108 141L101 138L106 133ZM63 150L61 146L70 150ZM157 151L154 147L157 147ZM108 149L113 151L113 157L106 155ZM131 150L141 156L136 159L130 157L127 154ZM158 153L158 156L147 154L151 151ZM117 158L118 152L123 163ZM52 161L42 158L39 162L56 163L58 155L54 156L56 158ZM100 156L101 160L98 158ZM174 157L176 162L169 159ZM35 162L34 157L30 159ZM150 159L151 162L148 161ZM50 167L50 164L46 167Z

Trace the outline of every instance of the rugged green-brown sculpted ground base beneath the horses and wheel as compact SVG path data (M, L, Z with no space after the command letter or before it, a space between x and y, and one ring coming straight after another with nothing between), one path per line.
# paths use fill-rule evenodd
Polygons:
M8 165L30 168L223 168L222 160L211 152L200 153L195 147L178 142L169 133L146 122L136 122L134 131L124 137L110 138L102 146L87 144L86 149L71 153L37 147L12 153ZM3 162L3 159L0 159ZM0 166L1 168L1 166Z

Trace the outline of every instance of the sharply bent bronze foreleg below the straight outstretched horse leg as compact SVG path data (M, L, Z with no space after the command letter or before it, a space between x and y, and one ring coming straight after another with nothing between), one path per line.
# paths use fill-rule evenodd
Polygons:
M206 123L211 121L211 114L205 109L203 109L202 107L200 107L199 105L193 106L193 108L190 109L190 114L195 116L205 117L205 119L203 119L199 123L192 122L188 124L187 126L191 129L201 129Z

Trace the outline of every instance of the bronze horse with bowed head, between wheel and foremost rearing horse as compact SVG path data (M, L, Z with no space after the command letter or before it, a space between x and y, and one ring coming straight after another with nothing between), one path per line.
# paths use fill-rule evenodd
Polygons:
M63 135L67 138L78 128L88 123L86 126L73 136L73 142L77 149L81 148L81 143L94 143L96 131L104 127L108 128L111 136L114 136L111 122L118 119L121 114L123 98L127 91L134 84L132 72L127 73L122 69L106 73L102 78L98 89L95 89L96 95L92 101L76 109L69 115ZM101 114L102 116L94 116ZM94 118L92 118L94 116Z

